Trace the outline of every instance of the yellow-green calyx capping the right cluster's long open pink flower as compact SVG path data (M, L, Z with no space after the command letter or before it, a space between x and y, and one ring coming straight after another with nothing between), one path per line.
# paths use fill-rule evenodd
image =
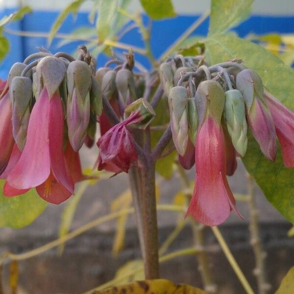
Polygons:
M224 107L224 92L221 85L213 80L201 82L196 90L196 105L199 126L207 115L212 116L220 125Z

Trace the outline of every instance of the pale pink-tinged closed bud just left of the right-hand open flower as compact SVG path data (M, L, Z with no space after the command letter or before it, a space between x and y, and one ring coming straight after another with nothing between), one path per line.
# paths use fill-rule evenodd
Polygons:
M183 156L188 144L188 93L182 86L173 87L169 94L172 140L178 153Z

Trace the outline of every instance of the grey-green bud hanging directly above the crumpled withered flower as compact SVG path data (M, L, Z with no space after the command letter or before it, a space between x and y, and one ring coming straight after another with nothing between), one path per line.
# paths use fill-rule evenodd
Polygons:
M137 99L134 75L131 71L122 69L116 74L116 87L124 104L128 105Z

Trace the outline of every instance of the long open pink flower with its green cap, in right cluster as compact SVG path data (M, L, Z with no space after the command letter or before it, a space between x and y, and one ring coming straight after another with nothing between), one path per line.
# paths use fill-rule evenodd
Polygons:
M196 135L196 178L186 215L205 225L225 221L235 199L226 179L226 154L221 116L224 92L216 81L203 81L196 91L200 127ZM237 212L238 213L238 212Z

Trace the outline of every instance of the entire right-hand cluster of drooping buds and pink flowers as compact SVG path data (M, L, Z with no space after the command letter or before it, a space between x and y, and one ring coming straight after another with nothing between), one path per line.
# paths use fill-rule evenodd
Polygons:
M262 153L275 160L276 136L283 162L294 167L294 113L264 89L260 76L239 61L182 68L175 59L161 65L169 98L172 139L179 163L196 165L193 196L187 211L197 221L217 225L231 210L240 217L226 175L244 156L249 127ZM181 71L179 74L179 70ZM241 217L242 218L242 217Z

